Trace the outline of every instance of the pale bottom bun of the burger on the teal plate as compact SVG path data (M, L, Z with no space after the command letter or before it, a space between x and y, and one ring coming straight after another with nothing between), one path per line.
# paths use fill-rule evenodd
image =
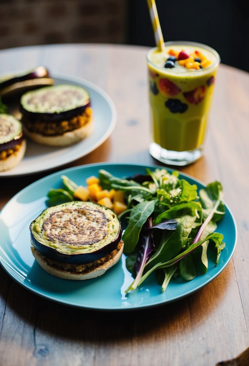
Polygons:
M114 255L111 257L111 259L109 259L107 262L97 265L96 267L92 266L90 268L87 268L83 272L69 272L68 270L57 268L56 266L48 264L46 261L46 257L41 255L41 253L39 253L39 251L36 250L33 246L31 246L31 251L39 265L46 272L50 273L50 275L67 280L89 280L103 275L109 268L114 266L119 261L123 253L123 247L124 243L123 241L120 241L118 245L119 249L117 248L112 252Z

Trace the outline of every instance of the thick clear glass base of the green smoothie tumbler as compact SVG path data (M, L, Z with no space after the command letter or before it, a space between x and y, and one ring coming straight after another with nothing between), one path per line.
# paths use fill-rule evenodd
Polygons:
M188 151L171 151L163 149L157 143L152 142L149 146L150 155L164 164L169 165L187 165L194 163L203 155L204 146Z

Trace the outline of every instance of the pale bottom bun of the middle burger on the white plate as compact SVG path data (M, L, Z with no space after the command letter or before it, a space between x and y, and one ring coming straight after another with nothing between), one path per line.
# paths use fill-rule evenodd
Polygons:
M64 132L63 135L57 136L43 136L37 132L30 132L25 126L23 130L31 140L40 143L41 145L49 146L69 146L76 142L83 140L85 137L89 136L93 130L93 118L91 117L87 124L83 127L76 128L73 131Z

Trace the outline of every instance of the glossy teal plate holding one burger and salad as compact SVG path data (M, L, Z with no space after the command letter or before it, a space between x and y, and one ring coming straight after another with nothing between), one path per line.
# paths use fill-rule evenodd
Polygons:
M133 281L125 266L125 255L103 276L92 280L63 280L49 275L35 261L30 251L29 225L46 208L46 194L50 188L61 186L61 175L65 174L77 184L98 175L100 168L119 176L145 173L145 168L156 166L130 164L90 164L64 169L30 184L16 194L0 213L0 262L6 272L28 290L47 299L70 306L95 310L133 310L163 305L190 295L217 277L229 263L235 249L237 229L233 215L226 206L226 214L218 223L217 231L224 235L225 249L221 252L218 266L214 264L215 252L208 248L208 270L205 275L196 275L192 281L172 279L165 292L157 284L154 274L135 291L125 294ZM161 167L162 168L162 167ZM171 169L168 169L171 171ZM199 181L180 173L180 178L197 184Z

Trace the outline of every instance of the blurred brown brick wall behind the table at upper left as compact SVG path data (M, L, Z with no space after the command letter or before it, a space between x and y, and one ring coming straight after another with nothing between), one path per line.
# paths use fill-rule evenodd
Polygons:
M0 0L0 49L125 43L127 0Z

